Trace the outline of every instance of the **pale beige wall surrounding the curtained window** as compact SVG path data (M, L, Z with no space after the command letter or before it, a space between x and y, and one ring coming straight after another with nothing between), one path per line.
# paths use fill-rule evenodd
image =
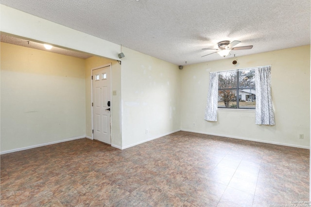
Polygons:
M233 60L238 64L233 65ZM270 64L275 126L255 125L255 111L218 110L218 122L204 120L209 72ZM310 46L187 65L181 73L182 130L310 146Z

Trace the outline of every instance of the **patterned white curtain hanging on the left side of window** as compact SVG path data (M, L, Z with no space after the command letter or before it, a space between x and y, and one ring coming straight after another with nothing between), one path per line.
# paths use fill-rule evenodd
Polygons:
M209 90L207 95L207 105L205 108L205 117L207 121L217 122L218 108L218 73L209 73Z

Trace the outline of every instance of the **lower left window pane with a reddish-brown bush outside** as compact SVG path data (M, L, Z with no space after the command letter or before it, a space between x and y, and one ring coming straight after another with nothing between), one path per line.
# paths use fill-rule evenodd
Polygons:
M237 90L219 90L218 107L237 108Z

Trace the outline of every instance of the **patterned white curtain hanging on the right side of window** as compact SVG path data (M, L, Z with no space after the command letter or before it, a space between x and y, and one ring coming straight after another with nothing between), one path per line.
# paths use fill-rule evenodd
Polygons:
M255 69L256 124L275 125L271 97L271 66Z

